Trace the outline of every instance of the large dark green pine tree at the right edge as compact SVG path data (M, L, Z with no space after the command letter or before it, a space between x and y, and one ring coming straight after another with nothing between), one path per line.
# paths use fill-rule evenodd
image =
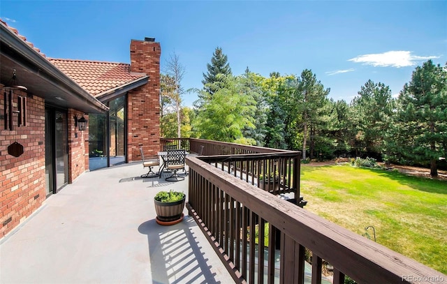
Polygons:
M408 162L430 164L430 174L436 177L437 161L447 154L447 65L429 60L416 67L411 82L400 93L398 106L398 152Z

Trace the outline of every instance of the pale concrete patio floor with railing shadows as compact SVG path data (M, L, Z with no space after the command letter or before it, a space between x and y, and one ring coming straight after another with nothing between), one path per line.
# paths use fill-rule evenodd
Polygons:
M141 163L86 172L50 196L0 239L0 283L234 283L186 209L177 225L155 221L154 195L187 195L188 177L145 172Z

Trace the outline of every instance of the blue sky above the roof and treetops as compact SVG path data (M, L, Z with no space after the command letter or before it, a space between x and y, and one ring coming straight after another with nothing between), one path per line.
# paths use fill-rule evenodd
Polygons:
M189 89L219 46L234 75L311 69L347 102L369 79L398 94L427 59L444 65L446 15L447 1L0 1L1 19L47 57L130 63L131 39L154 37L161 68L175 52Z

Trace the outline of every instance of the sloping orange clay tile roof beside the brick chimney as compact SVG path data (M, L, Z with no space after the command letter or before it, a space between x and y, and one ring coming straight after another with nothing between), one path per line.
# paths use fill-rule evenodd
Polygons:
M126 63L52 58L48 61L92 96L146 76L145 73L131 73L131 66Z

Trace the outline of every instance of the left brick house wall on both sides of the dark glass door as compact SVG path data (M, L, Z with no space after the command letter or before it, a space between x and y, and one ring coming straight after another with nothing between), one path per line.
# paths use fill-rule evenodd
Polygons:
M3 93L2 93L3 94ZM13 101L17 102L17 94ZM4 110L0 96L0 113ZM17 103L13 104L17 107ZM74 116L83 112L69 109L68 119L68 183L72 183L89 169L88 128L75 128ZM84 116L88 119L86 116ZM22 223L46 199L45 189L45 100L38 96L27 98L27 126L4 130L0 119L0 238ZM88 124L87 124L88 126ZM77 136L77 137L76 137ZM14 157L8 154L8 146L18 142L24 154Z

